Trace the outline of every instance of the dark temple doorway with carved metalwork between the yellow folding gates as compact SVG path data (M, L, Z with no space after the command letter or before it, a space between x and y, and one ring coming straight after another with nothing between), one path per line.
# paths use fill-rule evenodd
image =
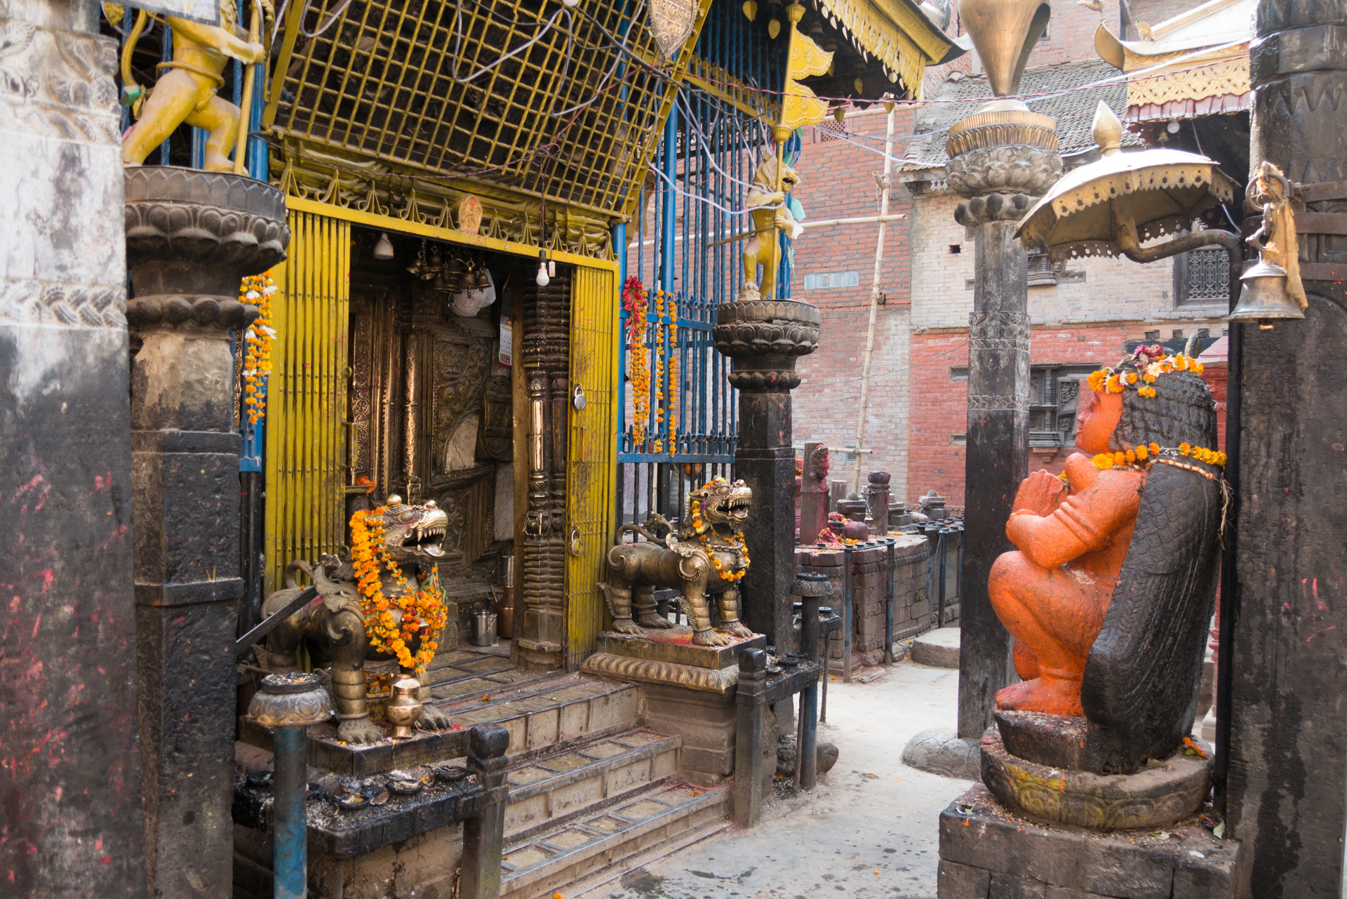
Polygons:
M481 693L482 678L513 682L515 360L501 310L533 272L502 253L366 228L352 229L350 249L345 519L391 496L443 509L450 624L431 666L436 698L459 683ZM496 644L481 646L484 633Z

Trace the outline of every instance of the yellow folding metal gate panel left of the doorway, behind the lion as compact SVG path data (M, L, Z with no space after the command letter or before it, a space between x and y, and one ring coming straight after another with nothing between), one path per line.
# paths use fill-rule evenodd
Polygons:
M317 562L345 540L346 321L350 224L290 213L290 257L272 298L277 340L267 391L267 574Z

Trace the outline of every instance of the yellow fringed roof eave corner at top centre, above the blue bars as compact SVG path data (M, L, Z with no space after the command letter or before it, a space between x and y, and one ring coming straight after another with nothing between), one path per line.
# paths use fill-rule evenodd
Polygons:
M911 0L815 0L828 23L855 46L862 57L874 57L890 82L901 81L920 98L927 66L954 59L963 47Z

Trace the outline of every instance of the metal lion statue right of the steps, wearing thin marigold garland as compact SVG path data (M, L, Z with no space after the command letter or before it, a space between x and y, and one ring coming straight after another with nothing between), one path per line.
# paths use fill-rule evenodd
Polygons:
M737 586L749 569L741 528L753 491L744 481L731 484L717 477L688 492L687 499L687 522L678 532L661 515L648 519L647 527L620 527L617 545L607 551L610 582L599 586L613 613L614 631L641 633L643 628L672 627L655 609L655 588L667 586L679 592L683 613L692 624L692 643L729 646L735 638L753 636L740 623ZM657 536L659 530L668 534ZM628 532L645 539L625 543L622 536ZM721 607L719 631L711 627L709 594Z

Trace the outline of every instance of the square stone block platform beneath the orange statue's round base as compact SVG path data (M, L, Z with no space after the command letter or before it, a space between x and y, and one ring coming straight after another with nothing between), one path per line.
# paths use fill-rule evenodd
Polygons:
M939 899L1227 899L1238 864L1196 815L1103 833L1014 814L981 784L940 813Z

